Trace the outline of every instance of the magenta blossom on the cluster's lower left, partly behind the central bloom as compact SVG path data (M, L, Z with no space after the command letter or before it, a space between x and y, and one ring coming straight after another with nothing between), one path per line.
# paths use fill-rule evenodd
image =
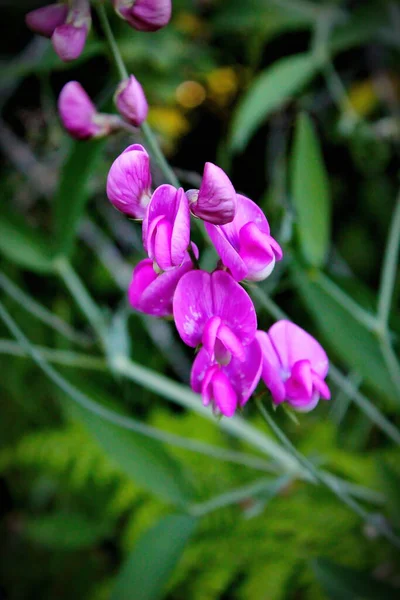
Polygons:
M187 255L180 267L175 267L160 274L154 270L153 261L150 258L145 258L133 270L133 277L128 290L131 306L139 312L154 317L172 315L172 300L175 288L181 277L192 268L192 261Z

